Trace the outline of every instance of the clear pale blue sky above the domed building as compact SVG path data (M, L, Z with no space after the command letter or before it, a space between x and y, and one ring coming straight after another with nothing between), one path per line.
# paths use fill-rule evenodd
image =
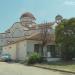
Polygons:
M31 12L37 23L52 22L60 14L75 17L75 0L0 0L0 32L19 21L25 12Z

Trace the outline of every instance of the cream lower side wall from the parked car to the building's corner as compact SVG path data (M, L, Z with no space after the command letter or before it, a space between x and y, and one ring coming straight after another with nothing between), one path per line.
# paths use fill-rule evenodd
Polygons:
M26 41L20 41L3 47L2 54L10 54L13 60L25 60L26 57Z

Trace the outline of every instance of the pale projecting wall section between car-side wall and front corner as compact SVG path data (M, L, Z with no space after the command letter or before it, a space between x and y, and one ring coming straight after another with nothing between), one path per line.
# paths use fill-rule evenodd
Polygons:
M26 54L27 54L27 42L26 41L21 41L17 43L17 51L16 51L16 56L18 60L25 60L26 59Z

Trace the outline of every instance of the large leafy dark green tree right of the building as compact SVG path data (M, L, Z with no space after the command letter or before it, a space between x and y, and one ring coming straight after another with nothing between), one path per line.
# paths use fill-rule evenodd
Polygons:
M75 57L75 18L62 20L56 27L56 43L60 46L64 60Z

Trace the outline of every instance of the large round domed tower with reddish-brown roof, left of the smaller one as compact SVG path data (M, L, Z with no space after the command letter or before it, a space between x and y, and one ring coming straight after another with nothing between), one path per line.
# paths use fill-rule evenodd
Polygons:
M35 20L36 18L30 12L26 12L20 17L20 22L25 27L31 26L33 23L35 23Z

